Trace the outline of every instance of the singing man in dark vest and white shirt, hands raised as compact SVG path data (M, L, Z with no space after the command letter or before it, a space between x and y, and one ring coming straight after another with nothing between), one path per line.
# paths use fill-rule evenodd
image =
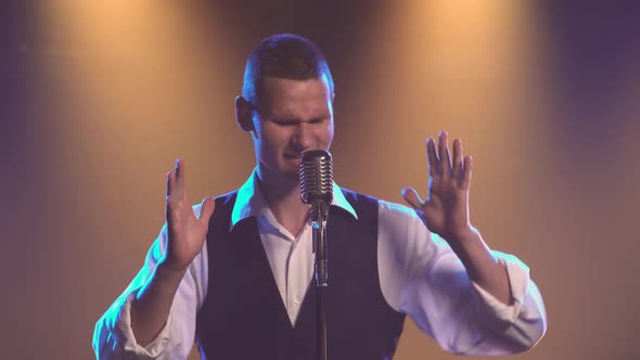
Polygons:
M238 192L192 208L185 166L167 181L167 223L145 267L98 322L101 359L313 359L315 296L302 152L329 150L334 86L320 50L295 35L263 40L251 54L239 126L257 165ZM412 207L334 184L329 217L329 357L391 359L405 314L444 349L504 355L546 331L528 268L491 252L470 222L472 159L447 133L427 140L426 201Z

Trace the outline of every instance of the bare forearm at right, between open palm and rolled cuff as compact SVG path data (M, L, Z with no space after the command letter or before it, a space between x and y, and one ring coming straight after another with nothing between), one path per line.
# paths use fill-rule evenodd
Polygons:
M491 255L479 232L471 228L449 241L469 279L505 305L513 305L507 269Z

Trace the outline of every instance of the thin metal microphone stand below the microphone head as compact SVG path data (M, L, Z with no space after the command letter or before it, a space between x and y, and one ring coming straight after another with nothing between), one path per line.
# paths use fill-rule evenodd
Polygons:
M318 360L327 360L327 291L329 258L327 247L327 219L329 204L313 203L310 209L313 228L313 271L316 275L316 339Z

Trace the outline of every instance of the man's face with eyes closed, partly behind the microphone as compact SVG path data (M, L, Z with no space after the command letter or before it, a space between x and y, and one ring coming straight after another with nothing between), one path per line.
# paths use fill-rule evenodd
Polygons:
M263 79L252 131L261 170L299 181L299 154L329 150L333 140L333 93L324 78Z

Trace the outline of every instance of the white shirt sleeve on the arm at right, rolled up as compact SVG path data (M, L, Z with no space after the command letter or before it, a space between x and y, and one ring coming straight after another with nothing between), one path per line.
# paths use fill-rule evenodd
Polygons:
M546 331L545 306L528 267L512 255L491 254L505 267L511 306L471 282L447 242L431 233L412 209L380 202L383 295L449 352L516 353L534 347Z

